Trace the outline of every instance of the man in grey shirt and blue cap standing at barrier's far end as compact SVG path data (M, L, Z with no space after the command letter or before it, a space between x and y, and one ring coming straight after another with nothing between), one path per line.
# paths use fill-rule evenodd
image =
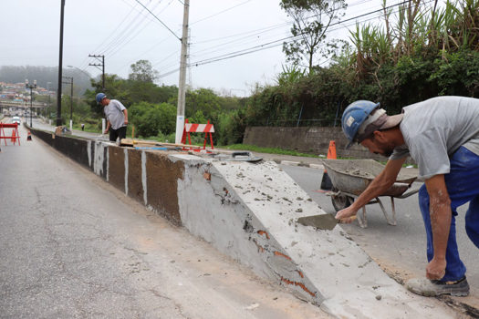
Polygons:
M127 136L128 110L118 99L109 99L104 93L97 94L97 103L103 107L107 117L107 128L103 134L109 131L109 140L117 138L125 139Z

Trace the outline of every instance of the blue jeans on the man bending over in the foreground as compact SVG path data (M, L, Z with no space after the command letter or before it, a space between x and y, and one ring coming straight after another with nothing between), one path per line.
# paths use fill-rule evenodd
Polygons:
M451 171L444 175L447 191L451 199L451 230L447 241L446 250L446 273L443 281L455 281L463 278L465 266L459 258L457 242L455 238L456 209L470 201L469 209L465 214L465 231L469 239L479 248L479 156L469 149L459 148L450 158ZM422 212L422 220L427 234L427 258L431 262L434 256L432 244L432 228L429 215L429 194L426 185L419 190L419 206Z

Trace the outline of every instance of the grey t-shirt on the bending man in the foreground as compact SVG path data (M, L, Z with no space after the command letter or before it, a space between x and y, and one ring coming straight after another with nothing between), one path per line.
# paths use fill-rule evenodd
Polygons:
M430 98L402 112L405 145L394 149L390 160L411 155L420 179L449 173L449 157L461 146L479 155L479 99Z

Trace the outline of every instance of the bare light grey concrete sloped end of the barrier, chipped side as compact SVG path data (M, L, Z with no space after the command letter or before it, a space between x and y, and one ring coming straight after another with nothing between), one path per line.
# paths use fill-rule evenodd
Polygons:
M390 279L340 227L297 224L325 212L276 163L172 158L186 165L178 184L184 227L256 273L340 318L450 317Z

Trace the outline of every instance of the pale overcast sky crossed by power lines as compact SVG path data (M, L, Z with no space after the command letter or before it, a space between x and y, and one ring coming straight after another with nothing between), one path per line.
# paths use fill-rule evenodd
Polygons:
M0 65L58 65L60 2L2 0ZM348 3L345 18L380 8L380 0ZM182 16L182 0L66 0L63 66L97 76L99 69L89 64L99 61L89 55L104 55L106 73L126 78L131 64L146 59L160 72L160 83L178 85ZM285 64L281 41L274 41L290 36L289 22L279 0L191 0L189 63L277 46L191 67L187 83L237 96L249 95L255 83L274 83ZM348 33L341 28L331 36Z

